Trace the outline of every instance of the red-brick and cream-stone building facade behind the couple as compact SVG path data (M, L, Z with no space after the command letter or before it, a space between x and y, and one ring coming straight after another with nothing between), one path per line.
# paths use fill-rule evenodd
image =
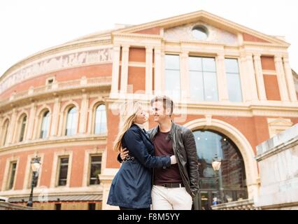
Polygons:
M255 147L298 123L289 45L198 11L122 25L23 59L0 77L0 196L27 202L37 157L34 207L115 209L106 199L120 167L113 141L121 106L139 99L149 111L156 94L174 99L173 121L196 139L194 209L210 209L214 197L257 196ZM155 125L150 117L147 127Z

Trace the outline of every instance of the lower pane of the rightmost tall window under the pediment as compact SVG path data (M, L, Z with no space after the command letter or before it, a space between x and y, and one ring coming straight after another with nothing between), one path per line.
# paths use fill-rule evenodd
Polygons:
M240 77L237 73L227 73L227 88L229 101L242 102Z

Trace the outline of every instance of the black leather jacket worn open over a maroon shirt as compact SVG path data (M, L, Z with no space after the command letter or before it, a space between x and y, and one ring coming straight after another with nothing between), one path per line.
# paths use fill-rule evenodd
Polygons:
M159 126L148 131L151 141L154 141L157 132ZM194 135L188 128L172 122L168 138L173 141L173 152L177 158L185 190L195 197L199 190L199 166Z

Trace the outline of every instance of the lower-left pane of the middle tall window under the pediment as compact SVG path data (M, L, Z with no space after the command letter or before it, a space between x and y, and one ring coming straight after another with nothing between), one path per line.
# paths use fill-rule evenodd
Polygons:
M190 99L204 101L203 73L190 71Z

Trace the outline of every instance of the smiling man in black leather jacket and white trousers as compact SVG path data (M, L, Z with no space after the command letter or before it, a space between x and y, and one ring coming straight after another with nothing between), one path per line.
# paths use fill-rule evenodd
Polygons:
M150 105L157 127L148 131L155 146L155 156L176 155L177 164L153 172L152 209L190 210L192 198L199 190L197 149L194 135L186 127L171 121L173 101L166 96L154 97ZM121 153L125 159L129 152ZM118 157L119 160L119 157Z

